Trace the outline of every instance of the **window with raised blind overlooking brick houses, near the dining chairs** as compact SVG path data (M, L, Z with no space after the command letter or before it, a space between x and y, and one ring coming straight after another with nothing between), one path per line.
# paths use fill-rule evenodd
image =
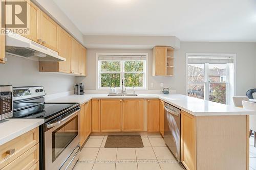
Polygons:
M229 104L234 95L233 58L187 55L187 95Z

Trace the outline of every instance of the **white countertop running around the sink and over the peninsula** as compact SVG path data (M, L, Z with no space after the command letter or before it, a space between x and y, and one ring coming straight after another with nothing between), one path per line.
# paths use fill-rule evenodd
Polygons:
M242 109L230 105L191 98L182 94L138 94L138 96L108 96L108 94L68 95L48 100L56 103L80 103L91 99L161 99L164 102L184 110L194 116L223 116L223 115L256 115L256 111Z

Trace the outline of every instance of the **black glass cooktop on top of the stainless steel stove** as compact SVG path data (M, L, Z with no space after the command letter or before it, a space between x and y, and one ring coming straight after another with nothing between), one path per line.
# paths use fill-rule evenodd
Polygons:
M30 107L29 107L30 106ZM70 108L79 106L76 103L44 103L37 104L33 102L22 102L14 107L13 118L45 118L53 117L54 115L69 110ZM18 109L23 107L23 109ZM24 108L26 107L26 108Z

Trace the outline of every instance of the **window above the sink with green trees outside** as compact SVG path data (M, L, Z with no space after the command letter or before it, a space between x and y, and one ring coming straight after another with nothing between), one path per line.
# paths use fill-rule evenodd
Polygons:
M98 88L146 88L146 54L98 54Z

